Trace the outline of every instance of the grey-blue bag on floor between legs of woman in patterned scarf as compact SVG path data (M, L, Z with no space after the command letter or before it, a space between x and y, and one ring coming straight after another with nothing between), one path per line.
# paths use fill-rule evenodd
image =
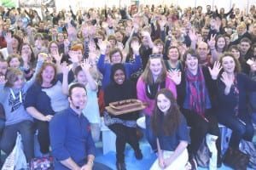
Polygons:
M211 152L207 146L206 139L203 139L200 148L197 150L195 160L199 167L209 167Z

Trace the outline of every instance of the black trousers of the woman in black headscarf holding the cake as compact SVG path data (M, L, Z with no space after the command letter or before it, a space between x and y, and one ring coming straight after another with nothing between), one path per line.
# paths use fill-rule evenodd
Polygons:
M118 162L125 162L125 144L131 145L133 150L139 150L136 127L125 127L122 124L115 123L108 126L116 135L116 159Z

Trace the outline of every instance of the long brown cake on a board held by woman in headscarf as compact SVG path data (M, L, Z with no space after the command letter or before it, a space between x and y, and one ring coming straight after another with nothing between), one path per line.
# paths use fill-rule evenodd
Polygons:
M106 110L113 115L121 115L134 111L142 111L145 107L139 99L125 99L110 103L106 107Z

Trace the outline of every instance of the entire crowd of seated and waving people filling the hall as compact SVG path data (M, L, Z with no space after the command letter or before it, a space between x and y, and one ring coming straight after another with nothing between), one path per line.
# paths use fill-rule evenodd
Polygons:
M40 151L54 156L55 169L97 169L103 116L117 137L116 167L125 170L126 143L143 159L137 119L145 116L158 157L152 170L196 169L204 139L215 157L209 168L221 167L218 123L232 130L229 147L238 150L241 139L252 141L256 122L256 8L235 7L50 14L43 6L42 19L33 9L1 7L0 150L9 155L19 132L29 163L38 132ZM105 110L124 99L139 99L145 109Z

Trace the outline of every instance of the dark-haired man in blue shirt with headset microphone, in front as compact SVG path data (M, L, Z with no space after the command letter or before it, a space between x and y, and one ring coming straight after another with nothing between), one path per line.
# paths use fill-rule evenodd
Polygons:
M49 122L49 137L55 170L91 170L96 147L90 133L90 122L82 114L87 95L83 85L69 88L69 108Z

